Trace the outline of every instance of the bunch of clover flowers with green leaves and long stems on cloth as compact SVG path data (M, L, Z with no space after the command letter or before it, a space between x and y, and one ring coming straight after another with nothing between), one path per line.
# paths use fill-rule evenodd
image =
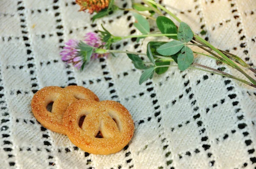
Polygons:
M196 69L220 76L236 79L246 85L256 88L256 80L248 74L247 71L256 73L256 70L244 62L239 56L215 48L207 39L203 39L192 31L188 24L182 22L171 11L154 0L142 0L142 3L134 3L133 8L120 8L115 5L114 0L76 0L81 6L80 11L87 11L90 14L96 12L92 20L105 17L116 10L133 11L136 22L134 26L141 32L140 35L131 35L126 37L114 36L102 25L102 31L97 33L90 32L84 37L84 41L79 42L76 39L70 39L66 47L61 52L62 60L72 62L75 67L83 70L91 59L107 57L109 54L115 56L115 53L126 53L131 59L134 67L144 70L139 83L142 84L147 79L152 79L154 73L165 73L169 67L178 67L180 71L186 69ZM179 25L165 15L173 17ZM159 33L151 33L148 20L153 20ZM206 34L201 31L200 34ZM137 38L137 42L145 37L167 37L169 41L151 41L147 44L146 53L134 51L111 50L114 42L119 42L127 38ZM191 46L197 46L205 52L192 50ZM150 62L145 62L140 56L147 56ZM228 65L244 75L245 79L233 76L224 72L225 67L218 69L210 68L194 62L194 55L203 55L215 59L217 65Z

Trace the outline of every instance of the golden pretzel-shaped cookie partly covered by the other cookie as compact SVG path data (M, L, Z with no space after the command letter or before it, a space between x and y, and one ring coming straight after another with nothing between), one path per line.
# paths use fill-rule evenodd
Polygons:
M89 89L81 86L68 86L64 89L57 86L44 87L32 98L31 108L35 118L46 128L54 132L66 134L62 124L62 117L67 107L78 99L99 98ZM47 110L47 105L53 102L52 111Z

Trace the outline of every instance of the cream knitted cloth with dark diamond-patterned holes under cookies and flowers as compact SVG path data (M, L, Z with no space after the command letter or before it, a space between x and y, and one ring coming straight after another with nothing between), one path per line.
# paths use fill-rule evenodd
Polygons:
M195 33L256 65L256 0L161 0ZM131 7L130 0L119 6ZM72 0L0 0L0 168L18 169L256 169L256 89L199 70L170 68L139 85L142 73L125 54L96 59L80 72L61 61L68 39L103 24L114 35L140 34L131 12L92 23ZM156 30L156 29L155 29ZM150 40L126 39L113 49L142 51ZM146 59L146 58L145 58ZM243 77L227 65L195 62ZM251 76L254 76L250 73ZM81 85L131 113L130 144L93 155L45 129L31 112L45 86Z

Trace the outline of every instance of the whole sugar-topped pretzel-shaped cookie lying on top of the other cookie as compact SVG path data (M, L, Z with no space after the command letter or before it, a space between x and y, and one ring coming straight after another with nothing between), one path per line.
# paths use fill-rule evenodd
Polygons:
M79 119L84 115L80 128ZM70 141L93 154L108 155L120 151L134 133L130 113L116 101L76 101L67 108L63 124ZM96 138L98 132L103 138Z

